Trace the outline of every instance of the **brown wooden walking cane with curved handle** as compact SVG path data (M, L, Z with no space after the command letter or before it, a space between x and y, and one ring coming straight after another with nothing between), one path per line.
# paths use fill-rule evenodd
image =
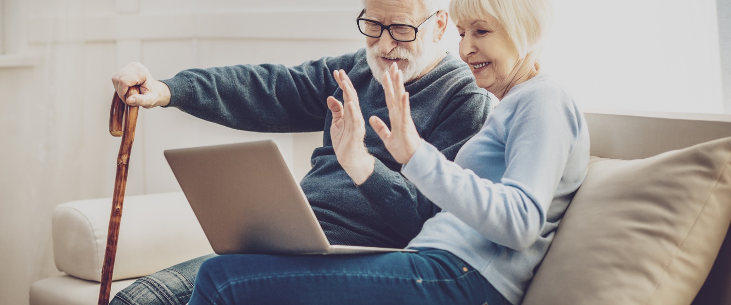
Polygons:
M139 94L140 88L133 86L127 91L127 97ZM124 121L124 129L122 123ZM99 288L99 305L109 304L109 294L112 287L112 273L114 258L117 254L117 238L119 237L119 223L122 218L122 203L124 203L124 189L127 185L127 164L129 153L132 151L132 142L135 140L135 125L137 124L137 107L126 105L118 95L112 98L112 109L109 113L109 133L115 137L122 137L117 156L117 176L114 180L114 197L112 198L112 214L107 231L107 249L104 252L102 266L102 285Z

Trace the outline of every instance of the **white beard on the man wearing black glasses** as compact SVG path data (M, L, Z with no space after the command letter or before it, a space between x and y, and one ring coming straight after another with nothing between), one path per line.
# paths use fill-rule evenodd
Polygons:
M387 33L385 33L387 34ZM383 74L390 68L390 66L382 67L382 61L379 62L379 57L385 57L387 59L405 59L406 67L399 67L404 72L404 83L409 83L416 78L419 78L424 74L424 70L431 67L436 61L436 56L441 53L441 45L436 42L431 42L431 37L422 37L419 42L419 48L417 51L412 52L407 50L401 45L397 45L388 54L383 54L378 50L378 44L371 45L366 48L366 60L368 61L368 67L371 67L373 77L379 83L383 82ZM431 35L429 35L431 36Z

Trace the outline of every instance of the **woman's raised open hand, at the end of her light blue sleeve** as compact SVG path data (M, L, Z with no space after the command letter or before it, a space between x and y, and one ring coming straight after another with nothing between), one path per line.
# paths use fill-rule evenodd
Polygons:
M377 116L371 116L369 121L393 159L401 164L406 164L419 147L420 137L411 117L409 92L404 89L404 73L394 63L389 71L384 73L382 83L391 130Z

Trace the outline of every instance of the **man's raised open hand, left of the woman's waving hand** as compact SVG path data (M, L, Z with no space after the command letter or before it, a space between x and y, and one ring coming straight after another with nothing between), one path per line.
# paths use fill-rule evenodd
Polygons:
M343 90L344 103L335 97L327 97L327 108L333 112L330 138L333 140L338 162L345 172L355 184L363 184L373 173L376 164L363 143L366 138L366 121L360 112L358 95L348 75L344 70L336 70L333 76Z

